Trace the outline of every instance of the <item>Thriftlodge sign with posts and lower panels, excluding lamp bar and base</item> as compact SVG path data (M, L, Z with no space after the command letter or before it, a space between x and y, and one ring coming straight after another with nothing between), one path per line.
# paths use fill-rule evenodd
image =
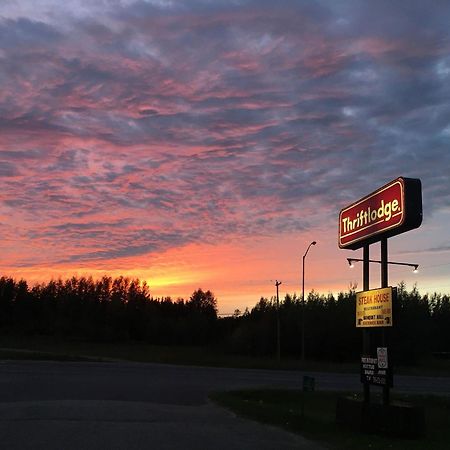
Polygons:
M388 330L394 321L395 290L388 287L387 240L418 228L421 223L422 186L414 178L397 178L339 213L339 247L363 248L363 292L356 296L356 327L363 330L361 382L366 403L370 403L370 385L376 384L383 386L383 403L388 405L389 388L393 384L392 364L388 362ZM381 288L370 290L369 246L378 241L381 241Z

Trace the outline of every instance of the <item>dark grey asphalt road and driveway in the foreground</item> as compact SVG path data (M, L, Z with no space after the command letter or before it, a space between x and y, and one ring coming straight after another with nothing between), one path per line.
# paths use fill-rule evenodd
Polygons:
M5 449L319 449L236 417L208 393L301 386L302 373L140 363L0 362ZM357 375L309 373L317 389L360 389ZM450 395L450 378L396 377L398 390Z

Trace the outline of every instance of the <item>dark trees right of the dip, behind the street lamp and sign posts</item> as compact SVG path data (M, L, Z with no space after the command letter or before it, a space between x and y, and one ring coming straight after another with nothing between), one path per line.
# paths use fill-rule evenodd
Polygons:
M227 333L227 349L247 354L276 352L277 314L280 321L281 354L301 357L302 314L305 356L328 361L356 361L362 352L362 330L355 326L356 292L318 294L310 292L303 310L301 298L287 294L279 309L276 298L261 298L251 311L238 318ZM450 357L450 296L421 295L404 283L397 287L392 328L385 328L393 361L415 364L430 356ZM236 324L238 322L238 324ZM237 325L237 326L236 326ZM372 342L380 343L380 328L372 330Z

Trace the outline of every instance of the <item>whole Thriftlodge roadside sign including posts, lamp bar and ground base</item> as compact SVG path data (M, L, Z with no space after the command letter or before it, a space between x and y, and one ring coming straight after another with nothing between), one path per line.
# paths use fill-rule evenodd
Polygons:
M396 323L393 305L396 289L388 286L388 238L418 228L422 223L422 187L418 179L397 178L339 213L339 247L363 249L363 291L356 293L356 327L362 329L361 383L364 403L338 399L338 424L362 431L422 436L423 408L389 404L393 386L393 364L389 354L389 332ZM369 259L369 247L380 241L381 261ZM351 258L347 258L350 262ZM361 261L358 259L358 261ZM378 289L369 287L369 264L381 263ZM416 265L413 265L417 267ZM370 386L383 388L383 405L370 402Z

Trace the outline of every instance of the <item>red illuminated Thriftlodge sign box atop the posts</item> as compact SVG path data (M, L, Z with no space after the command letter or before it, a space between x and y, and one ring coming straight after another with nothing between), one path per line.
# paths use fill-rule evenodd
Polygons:
M420 180L397 178L341 210L339 247L356 250L417 228L421 223Z

